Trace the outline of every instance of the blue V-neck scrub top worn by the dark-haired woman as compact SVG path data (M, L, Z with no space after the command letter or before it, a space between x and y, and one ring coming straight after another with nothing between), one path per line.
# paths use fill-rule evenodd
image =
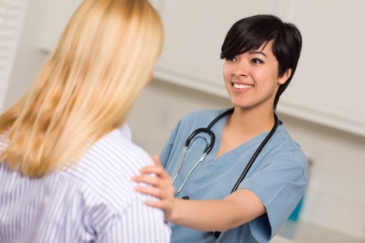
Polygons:
M208 126L224 111L192 112L179 121L161 153L161 162L170 176L174 177L177 173L179 156L188 136L195 129ZM194 169L177 197L188 196L190 200L225 198L230 194L254 151L268 134L267 132L258 135L219 158L215 158L227 118L228 116L220 119L211 129L216 135L216 144L209 155ZM178 190L190 169L202 156L207 141L210 141L209 135L200 133L190 142L181 171L174 183L175 190ZM307 183L306 170L305 154L280 121L277 131L238 187L238 190L246 188L254 192L266 207L266 214L222 233L218 239L202 231L171 224L171 242L268 242L288 219L304 194Z

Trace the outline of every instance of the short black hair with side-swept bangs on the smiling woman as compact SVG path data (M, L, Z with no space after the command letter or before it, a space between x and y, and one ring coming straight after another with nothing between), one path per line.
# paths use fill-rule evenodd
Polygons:
M273 40L273 54L279 62L279 77L291 69L291 76L277 90L275 110L280 95L293 77L302 49L302 35L294 24L282 22L274 15L254 15L238 20L225 37L220 58L233 58L246 51L257 50L270 40Z

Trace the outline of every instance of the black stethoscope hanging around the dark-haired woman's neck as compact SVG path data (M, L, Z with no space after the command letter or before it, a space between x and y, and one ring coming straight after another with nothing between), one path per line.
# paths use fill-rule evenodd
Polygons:
M179 168L177 169L176 175L172 179L172 184L175 183L175 181L177 179L177 176L179 176L179 174L180 174L181 167L182 167L182 165L184 163L184 158L186 156L186 151L188 151L188 146L189 146L190 142L193 140L193 138L197 134L199 134L199 133L206 133L211 138L211 142L207 142L207 145L206 145L206 147L205 147L205 149L203 151L202 157L200 157L200 159L197 160L197 162L195 163L195 165L190 169L190 171L188 172L187 176L184 178L184 181L181 183L180 187L175 192L175 196L177 194L179 194L179 192L181 192L181 190L184 188L184 185L186 184L186 181L188 181L188 178L190 177L190 174L194 171L194 169L197 167L197 165L199 165L200 162L202 162L204 160L204 158L206 157L206 155L209 154L209 152L211 151L211 149L213 149L214 143L216 142L216 135L214 135L213 131L211 131L212 126L214 126L214 124L216 124L217 121L219 121L220 119L222 119L222 117L225 117L226 115L232 114L233 112L234 112L234 108L231 108L229 110L226 110L225 112L222 112L222 114L218 115L218 117L216 117L215 119L213 119L213 121L211 121L211 123L206 128L197 128L195 131L193 131L193 133L190 134L190 136L188 137L188 139L185 142L184 148L181 151L181 155L180 155L180 158L179 158ZM248 165L246 165L245 169L243 169L242 174L238 178L238 180L236 181L236 184L232 188L231 193L232 192L235 192L238 189L238 186L241 184L241 182L243 181L243 179L245 178L245 176L248 174L248 171L252 167L252 165L254 163L254 160L256 160L257 156L259 156L259 153L261 152L261 150L263 149L263 147L267 144L268 140L270 140L270 138L275 133L276 128L277 128L277 124L279 123L278 122L278 119L277 119L277 115L275 114L275 112L274 112L274 119L275 119L275 123L274 123L273 128L271 128L271 130L268 133L268 135L266 135L265 139L261 142L261 144L259 145L259 147L257 148L257 150L254 152L254 154L250 158L250 161L248 162Z

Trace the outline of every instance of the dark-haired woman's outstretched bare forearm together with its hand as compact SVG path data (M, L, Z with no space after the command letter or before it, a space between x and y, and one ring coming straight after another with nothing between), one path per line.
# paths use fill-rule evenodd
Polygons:
M156 158L154 158L156 159ZM141 169L142 175L134 176L133 181L147 183L152 187L136 187L135 190L159 198L159 201L145 201L148 206L161 208L165 219L181 226L199 231L227 231L251 221L266 212L263 203L250 190L240 189L222 200L184 200L174 198L175 189L172 178L161 167ZM156 174L149 176L147 174Z

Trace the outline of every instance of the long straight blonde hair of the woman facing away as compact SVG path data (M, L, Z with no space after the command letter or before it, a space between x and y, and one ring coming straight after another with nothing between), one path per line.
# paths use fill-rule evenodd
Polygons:
M0 161L40 177L79 160L122 125L162 42L147 0L83 1L31 90L0 116Z

